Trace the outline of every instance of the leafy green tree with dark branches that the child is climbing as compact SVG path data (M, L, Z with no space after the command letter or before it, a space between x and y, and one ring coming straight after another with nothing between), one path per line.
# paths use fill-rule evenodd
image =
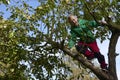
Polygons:
M69 55L89 68L100 80L118 80L115 61L117 56L115 47L120 35L118 2L118 0L38 0L40 5L36 7L26 1L6 4L11 15L5 20L1 14L0 19L0 65L2 65L0 73L3 76L1 79L24 80L32 78L31 75L38 79L53 77L66 79L70 72L63 63L62 56ZM89 20L106 19L108 24L103 24L101 26L105 27L97 29L96 37L102 41L110 39L108 51L110 74L93 67L79 53L76 57L66 47L69 38L67 33L69 13ZM91 17L88 18L86 15Z

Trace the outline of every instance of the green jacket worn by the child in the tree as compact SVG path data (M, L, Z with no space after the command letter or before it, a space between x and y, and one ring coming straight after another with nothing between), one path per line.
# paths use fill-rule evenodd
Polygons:
M83 41L85 43L90 43L95 41L95 37L91 32L90 27L97 27L98 24L95 21L87 21L79 19L79 26L71 26L71 38L69 40L69 48L72 48L76 41ZM77 40L77 38L79 38Z

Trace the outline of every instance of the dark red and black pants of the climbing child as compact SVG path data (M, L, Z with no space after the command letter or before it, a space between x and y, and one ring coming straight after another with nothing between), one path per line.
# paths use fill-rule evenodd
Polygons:
M107 64L105 63L105 58L100 53L100 50L98 48L96 41L91 43L78 42L78 45L76 48L80 53L83 53L88 60L97 58L98 62L101 65L101 68L106 68Z

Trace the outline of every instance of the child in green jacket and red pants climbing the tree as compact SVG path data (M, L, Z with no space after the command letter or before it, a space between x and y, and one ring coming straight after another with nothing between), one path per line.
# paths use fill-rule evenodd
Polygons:
M88 60L97 58L98 62L100 63L100 67L102 69L107 69L105 58L100 53L96 39L89 29L89 27L97 27L99 24L97 24L95 21L87 21L82 19L78 20L78 18L74 15L70 15L68 17L68 21L71 25L71 39L69 41L69 48L72 49L77 41L77 51L83 53ZM106 24L105 21L100 21L100 23ZM79 40L77 40L77 38L79 38ZM81 49L83 50L81 51Z

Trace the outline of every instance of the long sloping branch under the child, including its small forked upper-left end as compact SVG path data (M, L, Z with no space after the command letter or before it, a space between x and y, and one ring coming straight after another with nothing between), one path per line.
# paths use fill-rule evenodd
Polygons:
M55 43L55 42L54 42ZM68 54L69 56L73 57L75 60L79 61L81 64L89 68L90 70L93 71L99 77L101 80L110 80L110 74L106 74L104 71L101 69L93 66L92 63L90 63L87 59L85 59L83 56L80 56L79 52L71 52L68 48L63 46L64 41L62 41L60 44L56 43L59 45L59 49L61 49L65 54ZM112 78L112 77L111 77Z

